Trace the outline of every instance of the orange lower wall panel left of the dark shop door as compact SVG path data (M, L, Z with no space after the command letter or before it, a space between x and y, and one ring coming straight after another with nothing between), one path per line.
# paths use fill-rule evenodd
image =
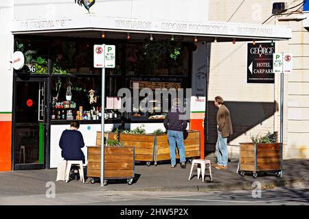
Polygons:
M12 122L0 122L0 171L11 169Z

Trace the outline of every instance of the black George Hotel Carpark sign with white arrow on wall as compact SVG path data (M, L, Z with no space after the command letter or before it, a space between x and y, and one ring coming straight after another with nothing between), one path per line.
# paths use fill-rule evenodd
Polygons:
M275 43L248 43L247 83L275 83Z

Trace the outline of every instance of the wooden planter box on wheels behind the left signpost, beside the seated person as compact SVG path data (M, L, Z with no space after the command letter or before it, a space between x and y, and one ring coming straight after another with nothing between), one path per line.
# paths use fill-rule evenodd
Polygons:
M87 146L88 172L91 178L101 177L101 146ZM131 184L135 176L134 147L105 146L104 179L128 179ZM91 180L91 183L94 181ZM107 184L107 181L104 181Z

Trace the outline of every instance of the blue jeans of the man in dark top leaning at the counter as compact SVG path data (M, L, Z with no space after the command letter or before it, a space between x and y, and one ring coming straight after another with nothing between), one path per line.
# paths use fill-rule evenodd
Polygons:
M179 149L180 162L185 162L185 145L183 144L183 131L168 130L168 143L170 144L170 162L176 165L176 142Z

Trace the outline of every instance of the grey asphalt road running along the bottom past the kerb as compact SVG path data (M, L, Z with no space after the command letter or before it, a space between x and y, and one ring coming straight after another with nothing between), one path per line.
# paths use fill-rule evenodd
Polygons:
M47 191L48 194L48 191ZM255 198L253 197L255 196ZM89 191L3 196L0 205L309 205L309 182L227 192Z

